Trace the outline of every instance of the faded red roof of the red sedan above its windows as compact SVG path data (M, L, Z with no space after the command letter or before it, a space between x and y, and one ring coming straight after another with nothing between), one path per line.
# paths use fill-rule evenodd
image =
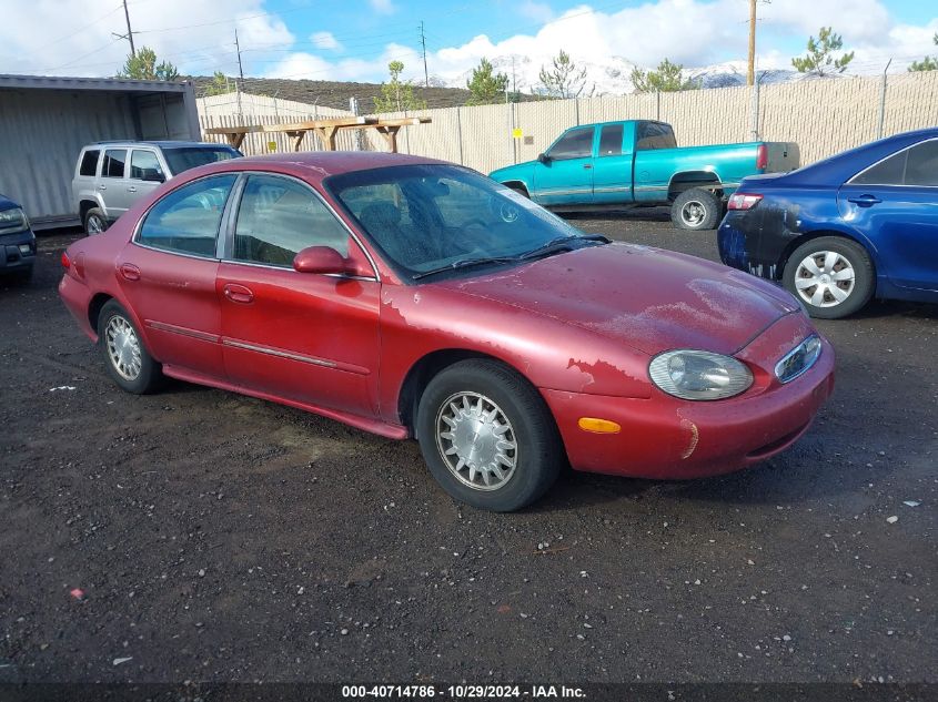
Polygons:
M395 165L453 165L446 161L426 156L374 151L301 151L295 153L245 156L219 161L186 171L192 177L219 172L272 171L293 174L305 180L321 181L330 175L353 171L370 171ZM186 177L186 180L190 180Z

